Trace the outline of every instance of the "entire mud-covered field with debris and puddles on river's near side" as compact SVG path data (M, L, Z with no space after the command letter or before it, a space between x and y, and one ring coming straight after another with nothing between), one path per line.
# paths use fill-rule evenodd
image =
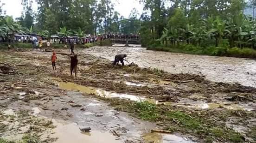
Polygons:
M0 143L256 142L255 88L77 52L0 52Z

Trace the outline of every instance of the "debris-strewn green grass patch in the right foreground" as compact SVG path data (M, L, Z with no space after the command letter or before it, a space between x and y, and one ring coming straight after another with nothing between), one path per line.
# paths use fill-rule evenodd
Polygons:
M100 98L100 97L99 97ZM171 132L188 133L201 138L205 143L213 141L242 143L243 136L227 128L222 124L223 115L231 115L230 111L223 111L214 114L210 111L186 111L186 109L155 105L149 102L133 102L121 99L104 99L110 102L110 106L116 110L128 112L130 115L153 122L161 122L165 125L164 130ZM212 121L212 118L219 121ZM256 130L256 129L255 129Z

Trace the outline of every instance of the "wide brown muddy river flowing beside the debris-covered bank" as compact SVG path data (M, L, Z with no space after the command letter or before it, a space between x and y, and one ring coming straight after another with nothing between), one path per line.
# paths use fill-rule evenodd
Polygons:
M203 74L216 82L238 82L256 87L256 61L242 58L215 57L150 51L145 48L95 47L84 53L114 60L115 54L128 54L128 61L139 66L163 69L171 73Z

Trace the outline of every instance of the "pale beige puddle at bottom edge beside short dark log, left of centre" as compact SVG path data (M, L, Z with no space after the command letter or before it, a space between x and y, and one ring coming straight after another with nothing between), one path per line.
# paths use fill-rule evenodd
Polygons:
M52 119L53 125L57 126L53 137L58 137L55 143L122 143L109 132L91 131L84 133L79 130L76 124L65 123Z

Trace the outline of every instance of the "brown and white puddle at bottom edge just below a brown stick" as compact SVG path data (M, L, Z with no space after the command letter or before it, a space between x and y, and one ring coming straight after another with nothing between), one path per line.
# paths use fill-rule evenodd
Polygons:
M173 134L147 133L142 136L146 143L194 143Z

